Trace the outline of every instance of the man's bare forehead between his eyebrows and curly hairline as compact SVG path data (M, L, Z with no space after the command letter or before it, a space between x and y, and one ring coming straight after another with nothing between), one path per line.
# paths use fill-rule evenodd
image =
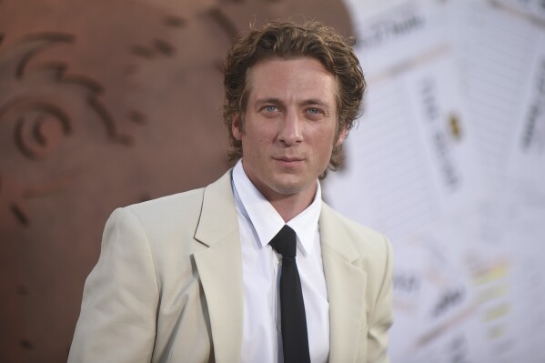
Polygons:
M318 98L335 104L338 95L335 76L310 57L263 60L249 70L247 86L250 100L261 97L286 101Z

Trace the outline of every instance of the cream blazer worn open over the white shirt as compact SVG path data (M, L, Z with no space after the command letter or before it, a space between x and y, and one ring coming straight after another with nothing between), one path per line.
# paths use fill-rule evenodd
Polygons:
M329 362L387 362L387 238L325 203ZM69 362L240 361L242 260L231 172L208 187L118 208L86 279Z

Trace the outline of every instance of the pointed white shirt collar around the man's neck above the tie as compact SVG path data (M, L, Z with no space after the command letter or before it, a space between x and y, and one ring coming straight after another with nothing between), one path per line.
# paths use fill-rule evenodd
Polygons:
M280 217L277 210L257 190L257 187L247 177L242 160L238 160L233 168L233 190L237 207L254 227L261 247L267 246L284 225L295 230L298 245L304 255L311 255L318 234L318 219L321 211L321 188L318 180L314 200L305 210L293 217L288 223Z

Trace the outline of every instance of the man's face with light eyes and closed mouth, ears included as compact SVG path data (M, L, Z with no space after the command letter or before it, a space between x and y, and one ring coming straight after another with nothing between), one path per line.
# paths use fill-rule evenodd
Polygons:
M316 59L273 58L252 67L250 94L240 130L243 166L249 179L269 201L298 194L310 200L316 179L328 167L338 139L337 84Z

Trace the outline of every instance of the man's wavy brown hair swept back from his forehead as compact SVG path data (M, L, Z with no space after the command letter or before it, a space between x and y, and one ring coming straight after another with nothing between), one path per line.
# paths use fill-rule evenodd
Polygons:
M352 50L353 43L352 38L345 38L333 28L317 22L298 25L288 21L274 21L258 29L252 26L247 37L237 39L227 52L223 69L223 117L231 145L229 161L243 155L242 143L233 136L232 126L233 118L238 114L241 131L244 132L251 68L270 58L317 59L335 77L338 86L336 139L344 127L350 130L360 115L360 104L367 86L358 57ZM328 169L336 170L341 163L342 145L333 148ZM320 177L324 177L328 169Z

